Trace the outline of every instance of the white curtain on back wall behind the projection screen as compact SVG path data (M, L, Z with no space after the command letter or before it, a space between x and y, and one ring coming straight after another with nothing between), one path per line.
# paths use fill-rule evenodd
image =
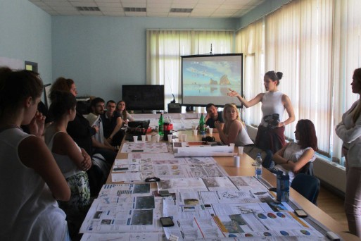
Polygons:
M146 83L165 85L165 103L181 100L181 56L233 53L232 30L147 30Z

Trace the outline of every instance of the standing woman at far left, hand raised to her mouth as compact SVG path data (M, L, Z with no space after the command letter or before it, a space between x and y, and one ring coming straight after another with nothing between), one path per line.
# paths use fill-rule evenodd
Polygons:
M0 68L0 240L69 240L56 199L69 200L70 189L40 137L42 93L37 73Z

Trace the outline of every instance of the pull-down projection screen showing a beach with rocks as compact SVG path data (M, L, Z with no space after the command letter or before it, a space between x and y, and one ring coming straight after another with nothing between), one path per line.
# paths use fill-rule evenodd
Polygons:
M182 56L182 105L223 107L238 99L228 97L230 89L243 94L243 54Z

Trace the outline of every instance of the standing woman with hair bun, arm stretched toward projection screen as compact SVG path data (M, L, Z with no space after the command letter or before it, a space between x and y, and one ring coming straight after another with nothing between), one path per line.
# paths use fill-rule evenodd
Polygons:
M265 73L263 83L266 92L258 94L250 101L246 101L246 99L243 99L239 93L232 89L229 89L228 93L230 97L237 97L246 108L262 102L262 120L258 126L255 145L261 149L270 149L272 153L284 147L286 144L284 126L295 121L291 100L286 94L277 89L282 75L281 72L274 73L274 71ZM289 118L281 121L285 109L289 114Z

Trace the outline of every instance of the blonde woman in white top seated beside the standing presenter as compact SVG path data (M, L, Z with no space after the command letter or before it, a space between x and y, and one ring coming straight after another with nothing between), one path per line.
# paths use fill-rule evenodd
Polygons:
M239 117L239 111L235 104L226 104L223 109L222 123L215 121L215 128L220 133L220 139L224 144L234 143L236 147L244 147L253 144L248 136L245 126Z

